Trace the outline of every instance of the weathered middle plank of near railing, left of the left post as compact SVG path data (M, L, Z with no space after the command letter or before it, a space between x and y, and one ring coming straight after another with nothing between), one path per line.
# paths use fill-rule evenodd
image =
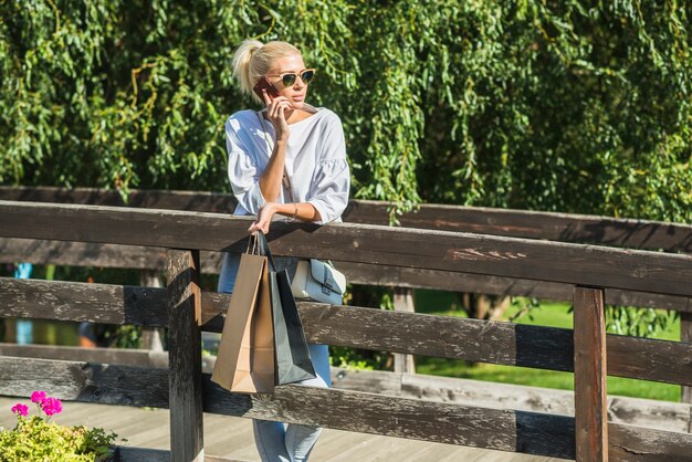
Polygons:
M0 277L0 316L168 327L165 288Z

